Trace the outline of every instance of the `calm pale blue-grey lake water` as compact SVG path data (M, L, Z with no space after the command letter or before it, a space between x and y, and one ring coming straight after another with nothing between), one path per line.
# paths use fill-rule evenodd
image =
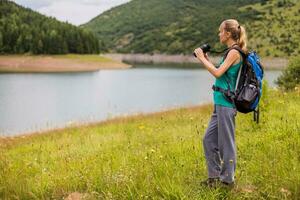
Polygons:
M280 71L267 71L269 85ZM16 135L212 102L203 69L0 74L0 135Z

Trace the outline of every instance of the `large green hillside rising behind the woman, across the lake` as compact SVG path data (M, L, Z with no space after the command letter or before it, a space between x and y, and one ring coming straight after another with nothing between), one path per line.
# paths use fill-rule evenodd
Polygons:
M105 52L190 54L218 44L222 20L236 18L249 31L250 47L262 56L299 53L297 0L132 0L82 25Z

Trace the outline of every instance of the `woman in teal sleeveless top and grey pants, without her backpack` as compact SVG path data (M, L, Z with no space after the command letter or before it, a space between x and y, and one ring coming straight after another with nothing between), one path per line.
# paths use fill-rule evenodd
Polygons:
M234 19L225 20L219 28L222 44L229 48L220 66L214 66L201 48L195 49L197 58L205 68L216 77L215 86L227 90L235 88L237 76L242 66L242 55L236 46L245 53L246 32L244 27ZM229 86L228 86L229 84ZM203 146L207 163L208 179L203 184L215 187L217 184L233 186L236 166L235 116L234 104L222 92L214 91L214 112L203 138Z

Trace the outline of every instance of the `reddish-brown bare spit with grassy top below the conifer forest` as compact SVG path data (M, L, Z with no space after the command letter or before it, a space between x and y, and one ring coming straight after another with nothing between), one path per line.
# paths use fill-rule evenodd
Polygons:
M0 56L0 72L83 72L130 67L130 65L120 61L101 59L98 55Z

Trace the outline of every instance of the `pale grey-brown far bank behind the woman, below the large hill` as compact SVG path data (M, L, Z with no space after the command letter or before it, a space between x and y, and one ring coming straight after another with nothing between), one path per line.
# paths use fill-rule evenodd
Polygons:
M162 54L103 54L102 56L127 63L199 63L193 56L187 55L162 55ZM214 64L220 62L221 57L210 57ZM265 69L282 70L288 65L286 58L262 58L261 62Z

